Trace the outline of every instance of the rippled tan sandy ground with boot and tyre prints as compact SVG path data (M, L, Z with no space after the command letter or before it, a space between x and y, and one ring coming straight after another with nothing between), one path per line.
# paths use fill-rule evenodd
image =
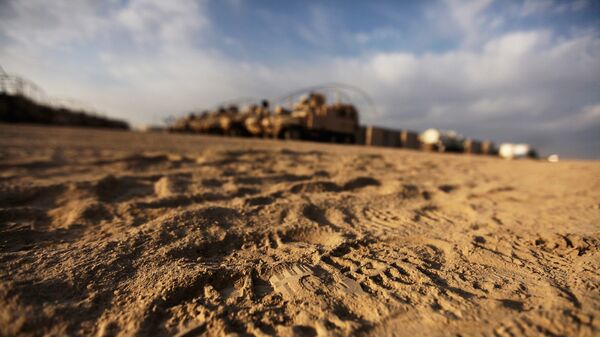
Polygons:
M0 125L0 335L592 336L600 163Z

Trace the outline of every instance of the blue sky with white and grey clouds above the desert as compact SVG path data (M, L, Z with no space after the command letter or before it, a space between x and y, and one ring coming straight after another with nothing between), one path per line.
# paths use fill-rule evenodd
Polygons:
M600 0L0 0L0 66L134 125L345 83L363 124L600 159Z

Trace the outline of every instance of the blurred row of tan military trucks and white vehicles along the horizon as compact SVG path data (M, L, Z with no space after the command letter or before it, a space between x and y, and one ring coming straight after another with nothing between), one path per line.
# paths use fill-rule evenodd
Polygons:
M528 145L511 147L503 144L500 153L491 141L466 139L452 130L428 129L417 134L410 130L363 127L359 111L347 91L360 89L345 85L328 85L297 91L275 100L246 100L220 104L211 110L191 113L175 120L171 132L204 133L237 137L262 137L285 140L311 140L331 143L361 144L421 149L436 152L498 155L504 158L533 157ZM344 91L346 91L344 93ZM333 92L333 95L332 95ZM333 96L333 99L332 99ZM525 153L523 153L525 152Z

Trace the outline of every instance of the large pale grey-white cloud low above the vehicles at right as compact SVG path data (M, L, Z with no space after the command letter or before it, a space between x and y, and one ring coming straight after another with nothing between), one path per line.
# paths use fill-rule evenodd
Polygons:
M545 30L514 32L490 40L480 51L340 60L332 76L371 92L381 104L379 123L451 127L476 137L526 141L596 103L599 42L595 35L558 39ZM492 125L496 130L490 133ZM574 131L577 125L562 126Z

